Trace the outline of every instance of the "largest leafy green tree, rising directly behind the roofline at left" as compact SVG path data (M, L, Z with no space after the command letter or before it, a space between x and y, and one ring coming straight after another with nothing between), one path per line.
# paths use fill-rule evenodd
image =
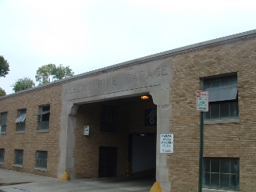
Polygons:
M51 81L61 80L73 75L74 73L72 69L69 68L69 66L55 66L55 64L50 63L48 65L39 67L35 77L39 84L47 84Z

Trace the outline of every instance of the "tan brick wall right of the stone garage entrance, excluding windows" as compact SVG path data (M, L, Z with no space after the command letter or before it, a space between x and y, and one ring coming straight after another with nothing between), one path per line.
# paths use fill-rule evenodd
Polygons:
M168 155L172 191L197 191L200 78L237 72L240 123L204 125L204 157L240 158L240 191L256 189L256 40L176 55L172 60L174 153Z

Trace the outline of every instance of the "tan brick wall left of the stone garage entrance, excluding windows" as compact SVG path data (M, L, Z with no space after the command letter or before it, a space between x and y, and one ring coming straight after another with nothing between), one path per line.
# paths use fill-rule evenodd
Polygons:
M29 172L41 176L57 177L59 165L59 131L62 86L49 87L0 100L0 112L8 112L6 134L1 135L0 148L5 148L5 161L1 169ZM50 104L48 133L37 133L39 105ZM16 133L17 110L27 108L25 133ZM23 149L23 168L14 167L14 150ZM34 170L36 151L48 151L47 172Z

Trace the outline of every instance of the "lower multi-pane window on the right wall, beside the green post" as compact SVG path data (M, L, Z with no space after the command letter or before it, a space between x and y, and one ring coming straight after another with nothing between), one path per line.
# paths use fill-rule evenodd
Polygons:
M239 158L204 158L203 187L239 190Z

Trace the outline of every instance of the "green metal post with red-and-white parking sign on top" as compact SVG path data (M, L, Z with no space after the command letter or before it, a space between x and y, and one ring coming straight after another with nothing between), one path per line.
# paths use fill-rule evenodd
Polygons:
M199 180L198 191L203 187L203 158L204 158L204 112L208 112L208 92L197 91L197 111L200 111L200 155L199 155Z

